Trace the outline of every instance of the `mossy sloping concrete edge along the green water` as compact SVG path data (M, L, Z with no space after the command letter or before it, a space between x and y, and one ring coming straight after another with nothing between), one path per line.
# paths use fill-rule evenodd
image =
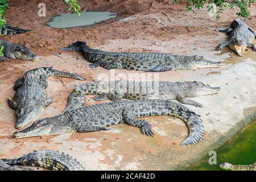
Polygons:
M249 125L249 123L255 121L256 119L256 111L253 114L247 115L244 119L241 119L236 125L234 125L229 131L226 131L224 134L220 134L220 137L215 138L208 147L206 147L203 151L199 153L199 155L195 156L193 159L187 159L183 164L177 165L174 170L184 171L188 167L191 167L193 164L200 162L201 159L207 156L209 151L217 150L218 147L221 147L223 144L228 142L234 135L238 134L243 127Z

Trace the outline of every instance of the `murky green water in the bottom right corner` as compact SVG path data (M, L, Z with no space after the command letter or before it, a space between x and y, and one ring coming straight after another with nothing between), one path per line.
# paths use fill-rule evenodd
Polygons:
M199 163L194 164L188 170L222 170L218 166L221 163L254 164L256 162L256 120L247 125L236 136L216 150L217 164L210 165L206 156Z

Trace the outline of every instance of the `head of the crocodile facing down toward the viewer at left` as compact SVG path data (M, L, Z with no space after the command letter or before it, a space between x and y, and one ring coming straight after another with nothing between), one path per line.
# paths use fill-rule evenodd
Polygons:
M28 100L24 106L18 107L16 110L17 122L16 129L23 129L31 121L39 118L43 113L43 104L38 104L37 101Z

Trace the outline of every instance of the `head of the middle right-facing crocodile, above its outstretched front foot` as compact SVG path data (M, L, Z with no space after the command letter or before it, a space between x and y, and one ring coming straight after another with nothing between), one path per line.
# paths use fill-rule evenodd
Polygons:
M187 82L187 86L185 86L184 95L187 97L198 97L205 96L209 94L219 93L220 87L212 87L209 85L205 85L200 81L189 81Z

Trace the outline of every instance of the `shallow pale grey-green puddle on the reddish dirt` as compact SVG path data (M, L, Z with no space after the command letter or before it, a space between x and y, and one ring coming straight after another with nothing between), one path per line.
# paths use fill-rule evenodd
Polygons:
M52 28L70 28L85 25L91 25L103 20L115 18L117 14L99 11L82 12L79 16L77 13L63 13L53 16L47 25Z

